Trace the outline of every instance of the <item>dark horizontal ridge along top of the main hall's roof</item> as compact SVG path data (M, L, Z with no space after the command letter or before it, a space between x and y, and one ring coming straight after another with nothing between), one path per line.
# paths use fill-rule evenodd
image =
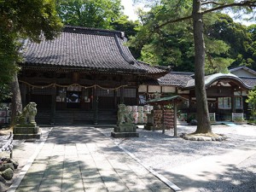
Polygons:
M96 35L103 35L103 36L117 35L119 38L125 38L125 32L108 30L108 29L90 28L90 27L84 27L84 26L64 26L63 32L96 34Z

